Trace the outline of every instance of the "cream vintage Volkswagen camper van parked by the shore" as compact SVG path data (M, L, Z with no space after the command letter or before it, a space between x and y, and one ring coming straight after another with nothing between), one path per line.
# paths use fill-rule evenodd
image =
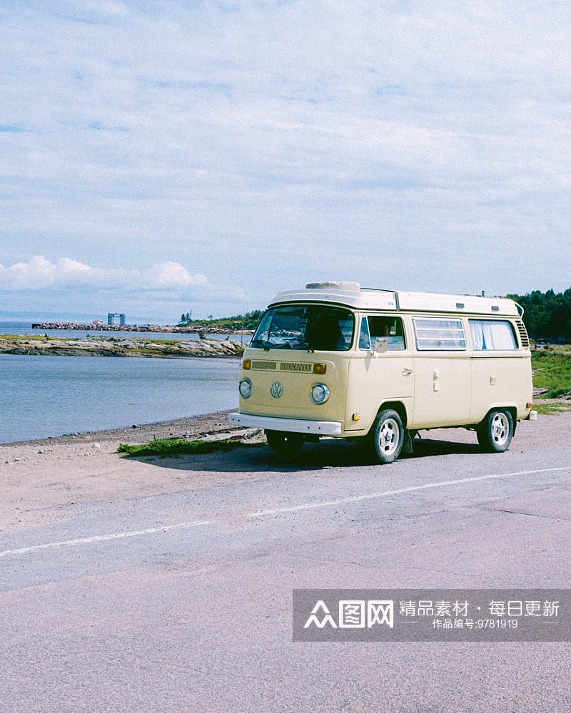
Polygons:
M381 463L420 429L463 426L505 451L536 416L530 342L512 299L317 282L279 293L244 352L240 412L278 456L364 438Z

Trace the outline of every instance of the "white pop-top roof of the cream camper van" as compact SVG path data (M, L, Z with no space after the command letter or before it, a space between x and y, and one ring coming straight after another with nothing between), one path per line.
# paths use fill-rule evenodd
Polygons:
M503 314L519 317L519 305L508 297L474 294L406 292L368 289L358 282L310 282L305 289L278 292L270 306L281 302L329 302L354 309L394 309L401 312L453 312L456 314ZM522 310L522 308L520 307Z

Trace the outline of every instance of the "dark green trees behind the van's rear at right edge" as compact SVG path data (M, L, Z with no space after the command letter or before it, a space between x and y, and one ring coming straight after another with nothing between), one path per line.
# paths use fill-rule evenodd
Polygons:
M540 292L534 289L526 294L508 294L523 309L523 321L532 339L551 342L569 342L571 339L571 287L565 292Z

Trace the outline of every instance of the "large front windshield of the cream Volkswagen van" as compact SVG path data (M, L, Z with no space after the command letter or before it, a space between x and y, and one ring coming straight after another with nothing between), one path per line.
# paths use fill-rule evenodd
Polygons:
M319 304L273 307L262 317L251 347L346 352L353 343L351 312Z

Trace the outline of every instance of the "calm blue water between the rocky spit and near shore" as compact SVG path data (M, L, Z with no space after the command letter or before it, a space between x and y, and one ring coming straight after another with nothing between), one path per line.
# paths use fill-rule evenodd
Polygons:
M0 354L0 443L238 407L238 359Z

